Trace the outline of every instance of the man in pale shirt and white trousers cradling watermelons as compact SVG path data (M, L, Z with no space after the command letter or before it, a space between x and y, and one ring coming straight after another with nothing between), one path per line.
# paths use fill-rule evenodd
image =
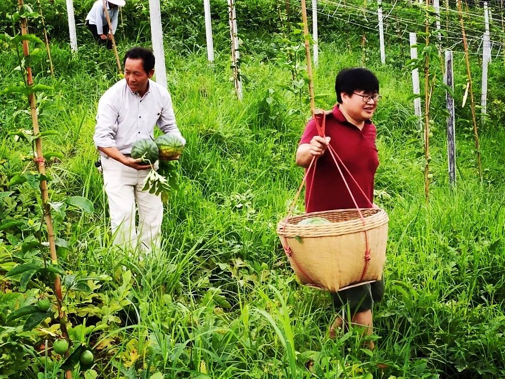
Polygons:
M93 140L101 156L114 243L149 251L160 245L163 204L160 196L142 191L150 166L131 158L131 148L139 139L154 138L155 124L164 133L181 133L170 93L150 80L155 66L153 53L140 47L130 49L123 64L125 78L98 102Z

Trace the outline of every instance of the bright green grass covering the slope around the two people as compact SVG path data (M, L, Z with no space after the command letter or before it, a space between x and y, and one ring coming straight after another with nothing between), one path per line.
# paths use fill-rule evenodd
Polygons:
M459 122L458 186L452 188L445 116L435 108L434 179L426 205L418 158L421 134L406 121L413 113L407 99L410 72L371 66L384 95L375 117L376 203L390 222L386 295L374 307L377 348L370 352L363 349L358 330L328 340L330 298L297 284L275 234L302 178L294 153L309 117L308 106L282 89L290 85L288 71L275 63L248 62L242 70L249 83L238 103L225 54L213 67L204 55L170 57L168 85L187 139L181 189L166 206L163 250L139 263L138 257L111 246L102 178L93 167L96 103L117 80L112 56L94 45L83 46L79 58L55 45L53 55L57 77L37 77L55 86L40 123L42 130L59 134L44 139L44 150L64 155L49 168L51 197L61 201L81 195L95 206L92 215L71 212L64 220L56 218L57 236L69 246L60 251L61 263L73 273L108 275L89 282L98 286L95 295L72 292L67 298L71 334L76 340L84 335L95 347L98 377L161 377L156 372L166 378L505 375L502 130L481 135L488 170L481 183L472 136ZM18 81L12 56L0 56L6 62L2 76ZM359 64L357 57L326 46L315 86L329 96L318 106L333 105L334 76L341 67ZM30 123L24 113L16 113L26 108L23 99L3 101L0 163L9 176L31 167L20 158L28 147L8 135ZM0 189L7 191L2 180ZM36 221L37 206L23 202L25 191L16 189L18 206L11 212ZM15 260L21 241L7 234L0 238L2 261ZM17 286L6 279L0 283L4 293ZM28 291L27 301L36 291ZM83 331L82 324L91 327ZM23 341L39 346L48 336L39 330ZM3 349L0 344L6 353ZM5 372L9 365L0 360ZM36 377L34 367L24 368L23 377ZM91 371L87 375L94 377Z

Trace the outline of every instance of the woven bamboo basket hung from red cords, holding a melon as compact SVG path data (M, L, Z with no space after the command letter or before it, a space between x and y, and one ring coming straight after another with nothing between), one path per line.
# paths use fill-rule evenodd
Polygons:
M297 224L316 216L331 223ZM301 283L337 292L382 278L388 221L378 208L312 212L284 218L277 234Z

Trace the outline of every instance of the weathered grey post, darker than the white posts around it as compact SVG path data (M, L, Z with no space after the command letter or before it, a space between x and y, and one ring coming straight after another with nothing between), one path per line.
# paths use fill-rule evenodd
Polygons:
M454 76L452 74L452 52L445 51L445 77L444 83L454 89ZM456 131L454 116L454 99L449 91L445 91L447 103L447 166L449 170L449 183L456 185Z

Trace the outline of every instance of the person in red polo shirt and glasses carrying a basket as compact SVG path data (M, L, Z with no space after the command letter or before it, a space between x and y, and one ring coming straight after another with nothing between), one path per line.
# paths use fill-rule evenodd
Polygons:
M307 212L356 208L335 162L329 153L325 153L328 145L366 195L365 198L342 168L358 207L370 208L373 204L374 176L379 158L375 146L377 130L370 118L380 99L379 80L365 68L343 69L336 77L335 92L338 104L332 112L326 112L326 136L319 136L316 121L312 119L296 151L296 164L301 167L308 168L313 157L317 158L316 170L311 170L307 177L307 188L310 188L305 196ZM348 306L352 313L351 322L365 326L367 334L372 334L372 306L384 295L383 280L331 295L335 309ZM342 322L341 316L337 315L330 327L331 338L335 337L335 328ZM373 343L370 347L373 348Z

